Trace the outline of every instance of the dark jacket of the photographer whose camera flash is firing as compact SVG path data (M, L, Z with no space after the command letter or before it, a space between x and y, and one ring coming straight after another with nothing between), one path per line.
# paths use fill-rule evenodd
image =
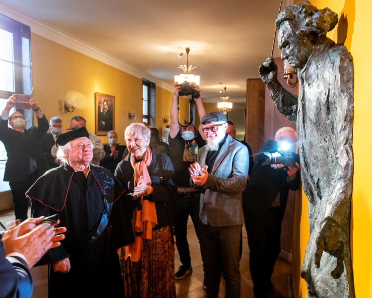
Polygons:
M276 152L278 149L275 141L270 140L263 144L259 152ZM294 153L296 154L296 153ZM296 154L297 158L298 155ZM262 165L257 156L254 161L252 173L248 181L248 194L243 202L245 213L258 217L265 213L280 192L280 217L284 216L287 206L289 190L300 187L300 173L296 173L294 180L287 182L287 170L274 169L270 165Z

